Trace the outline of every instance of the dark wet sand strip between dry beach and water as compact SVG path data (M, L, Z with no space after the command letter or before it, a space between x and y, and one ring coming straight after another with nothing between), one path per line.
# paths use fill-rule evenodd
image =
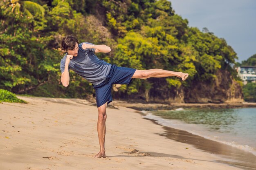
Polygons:
M146 116L148 113L140 111L138 113L144 115L144 119L148 119L154 124L162 126L165 132L159 134L161 136L165 136L168 139L178 142L191 144L195 148L220 155L220 157L228 159L228 161L216 160L218 162L227 163L230 166L235 166L245 170L256 169L256 155L250 151L236 148L234 146L230 146L213 139L207 139L200 135L195 135L191 132L188 132L187 130L181 130L175 127L162 125L157 121L157 119L148 118ZM211 147L209 147L209 145L211 145Z

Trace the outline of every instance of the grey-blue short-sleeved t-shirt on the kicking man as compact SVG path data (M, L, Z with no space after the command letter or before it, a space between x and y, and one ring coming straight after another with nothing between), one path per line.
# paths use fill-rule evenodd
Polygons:
M82 44L92 44L82 42L79 44L78 54L70 60L68 71L73 70L75 73L91 82L93 85L98 85L103 82L110 72L111 64L100 60L95 54L95 49L82 49ZM65 62L67 53L61 59L61 73L65 70Z

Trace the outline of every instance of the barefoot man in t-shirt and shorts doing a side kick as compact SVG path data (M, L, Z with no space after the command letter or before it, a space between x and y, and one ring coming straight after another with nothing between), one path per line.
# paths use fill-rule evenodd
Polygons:
M67 87L70 81L69 70L73 70L81 77L92 83L96 93L98 107L98 137L100 152L96 158L105 158L105 135L106 135L106 108L112 102L112 84L130 84L132 79L147 79L149 77L176 76L184 81L189 74L182 72L167 71L162 69L137 70L109 64L100 60L94 53L109 53L109 46L94 45L83 42L79 44L77 38L67 35L61 40L61 49L67 53L61 59L61 82Z

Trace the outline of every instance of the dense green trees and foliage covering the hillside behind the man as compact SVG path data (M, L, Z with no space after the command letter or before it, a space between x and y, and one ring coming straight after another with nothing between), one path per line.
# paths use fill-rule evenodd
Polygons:
M94 93L73 71L68 88L61 85L60 41L67 34L110 46L111 53L97 55L118 66L189 73L186 82L163 78L168 91L211 82L217 70L232 70L237 58L224 39L189 27L167 0L4 0L0 5L0 88L14 93L81 98ZM135 79L117 93L144 94L154 84L154 78Z

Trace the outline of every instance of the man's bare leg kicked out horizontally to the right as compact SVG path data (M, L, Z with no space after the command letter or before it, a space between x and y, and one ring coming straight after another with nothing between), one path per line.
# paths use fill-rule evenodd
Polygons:
M169 77L169 76L180 77L184 81L189 76L189 74L182 73L182 72L168 71L168 70L163 70L159 68L153 68L149 70L136 70L132 78L147 79L150 77Z

